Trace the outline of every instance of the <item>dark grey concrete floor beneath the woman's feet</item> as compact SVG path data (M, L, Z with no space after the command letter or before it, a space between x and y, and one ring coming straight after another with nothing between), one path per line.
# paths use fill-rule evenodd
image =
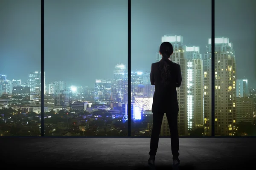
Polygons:
M0 161L12 167L147 170L149 138L0 138ZM180 170L256 169L256 138L180 138ZM155 164L171 170L169 138ZM253 167L254 166L254 167Z

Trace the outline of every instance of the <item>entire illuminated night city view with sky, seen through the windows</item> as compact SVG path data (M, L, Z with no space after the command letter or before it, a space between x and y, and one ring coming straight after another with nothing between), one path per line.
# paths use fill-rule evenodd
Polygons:
M177 88L179 136L211 136L213 127L215 136L256 135L256 1L215 1L214 29L211 0L131 1L128 51L126 0L45 0L44 82L40 0L0 2L0 135L127 136L131 130L131 136L150 136L150 67L161 59L164 41L173 44L170 59L183 79ZM165 120L161 136L170 135Z

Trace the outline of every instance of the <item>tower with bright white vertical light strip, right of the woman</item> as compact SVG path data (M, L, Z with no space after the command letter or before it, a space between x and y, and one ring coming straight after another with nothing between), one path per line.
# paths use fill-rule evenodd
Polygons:
M187 119L188 129L204 124L203 60L200 48L185 46L187 59Z

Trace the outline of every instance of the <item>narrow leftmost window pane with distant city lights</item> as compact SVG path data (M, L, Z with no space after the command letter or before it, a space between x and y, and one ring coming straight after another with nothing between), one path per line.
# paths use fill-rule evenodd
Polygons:
M0 1L0 136L41 135L40 9L40 0Z

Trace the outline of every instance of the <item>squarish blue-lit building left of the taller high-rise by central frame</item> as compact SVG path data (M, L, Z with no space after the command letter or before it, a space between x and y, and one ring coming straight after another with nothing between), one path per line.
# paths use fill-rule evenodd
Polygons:
M111 103L111 79L96 79L94 99L97 104Z

